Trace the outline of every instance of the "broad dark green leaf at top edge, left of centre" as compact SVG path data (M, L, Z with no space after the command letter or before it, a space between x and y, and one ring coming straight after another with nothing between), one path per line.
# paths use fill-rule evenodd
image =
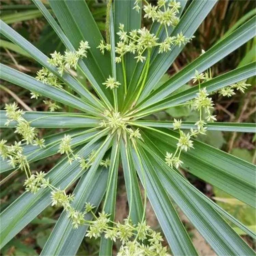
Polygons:
M101 87L101 90L112 101L111 91L102 83L111 74L110 55L102 55L97 49L103 37L95 23L86 1L49 1L49 4L67 38L77 49L82 40L86 40L91 47L87 58L82 61ZM89 77L88 77L89 78Z

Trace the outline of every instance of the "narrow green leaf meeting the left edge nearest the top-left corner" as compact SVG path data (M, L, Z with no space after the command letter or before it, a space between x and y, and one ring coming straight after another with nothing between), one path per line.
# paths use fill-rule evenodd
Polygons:
M47 56L40 52L34 45L28 42L23 38L19 33L14 29L6 25L2 20L0 20L0 33L3 34L6 38L10 39L13 43L20 46L24 51L31 55L36 61L38 61L42 66L53 72L60 80L67 83L74 91L79 95L82 95L83 99L86 99L88 102L95 102L95 97L91 96L88 90L81 85L74 77L72 77L67 72L64 72L62 76L59 75L57 68L49 65L47 62Z

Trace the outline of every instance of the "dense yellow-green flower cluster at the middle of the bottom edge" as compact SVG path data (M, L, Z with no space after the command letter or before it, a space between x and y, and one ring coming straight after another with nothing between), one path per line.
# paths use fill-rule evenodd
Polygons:
M91 211L87 208L87 212ZM94 215L95 216L95 215ZM148 255L166 256L167 248L163 247L160 233L151 229L146 222L133 225L129 219L124 220L124 224L110 221L110 215L104 211L95 216L95 220L90 222L86 237L98 238L102 235L106 239L122 243L118 256Z

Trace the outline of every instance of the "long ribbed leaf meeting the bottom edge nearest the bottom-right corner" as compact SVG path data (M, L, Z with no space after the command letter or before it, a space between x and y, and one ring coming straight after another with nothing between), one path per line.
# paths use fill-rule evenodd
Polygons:
M151 156L148 156L148 153ZM254 255L253 250L245 241L234 232L211 205L201 200L193 191L193 186L182 175L168 167L151 150L147 151L147 160L151 163L151 171L159 177L175 203L218 255Z

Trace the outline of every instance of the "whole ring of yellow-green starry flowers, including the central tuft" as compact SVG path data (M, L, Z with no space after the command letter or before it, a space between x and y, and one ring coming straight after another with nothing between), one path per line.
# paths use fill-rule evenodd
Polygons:
M134 11L140 10L140 1L136 1L134 5ZM131 125L133 116L130 115L132 112L132 106L136 104L143 86L146 81L148 69L150 66L152 48L156 47L158 54L171 51L172 46L176 45L180 47L182 44L189 42L189 38L186 38L182 32L177 33L175 36L171 36L168 33L168 27L175 27L179 22L180 3L175 0L158 0L156 5L151 5L147 1L143 1L144 6L144 17L152 20L159 24L156 34L152 33L146 27L141 29L134 29L132 31L126 31L123 24L119 25L119 31L117 35L119 36L119 41L115 45L115 62L116 65L121 65L123 70L123 81L117 81L112 74L109 74L108 79L102 83L106 89L113 92L114 106L104 107L101 115L99 124L97 127L90 129L89 131L99 131L104 134L117 134L118 139L121 137L125 140L130 140L135 150L137 150L137 142L142 141L142 135L140 129ZM166 36L160 41L158 38L161 29L164 29ZM111 51L111 45L105 44L103 41L100 42L97 47L102 54L105 51ZM80 46L76 51L65 51L62 55L59 52L54 52L51 54L51 58L48 59L48 63L55 68L57 68L58 73L62 76L65 72L69 72L73 75L78 67L78 61L80 58L87 57L87 51L90 46L87 41L81 41ZM137 97L135 101L130 106L128 112L121 112L118 110L116 104L116 90L119 86L123 85L125 88L125 94L127 93L126 88L126 73L125 73L125 63L124 56L126 54L132 54L137 62L143 63L143 69L137 87L139 88ZM60 90L63 89L63 83L59 78L46 68L42 68L37 72L36 79L42 83L55 86ZM186 152L193 147L193 138L197 137L199 134L205 134L207 132L207 122L214 122L216 120L216 115L214 115L214 104L210 97L211 95L207 92L205 87L201 88L202 81L208 81L212 79L211 70L209 69L205 73L199 73L195 70L195 75L191 77L193 84L197 83L199 90L197 96L188 102L189 105L194 110L199 113L199 120L195 123L195 129L191 129L189 132L184 132L182 130L182 120L174 119L173 129L179 132L179 138L176 143L176 150L174 153L166 152L165 162L170 167L179 168L182 166L182 152ZM246 81L241 81L231 86L225 87L218 90L217 93L222 96L230 97L235 94L235 90L244 93L249 84ZM216 92L214 92L216 93ZM38 99L41 97L38 93L31 92L31 98ZM49 108L50 111L56 111L61 109L61 106L56 102L49 100L43 101ZM104 104L103 104L104 105ZM26 181L24 183L25 189L31 193L37 193L39 189L49 189L51 190L52 206L63 207L64 211L67 212L68 218L71 220L73 228L78 228L80 225L87 225L88 231L86 233L87 237L98 238L104 236L106 239L111 239L114 242L120 240L122 243L118 255L148 255L148 256L164 256L167 255L167 248L163 247L162 237L160 233L152 230L145 221L145 214L141 223L132 223L130 218L130 213L127 219L123 223L115 223L111 221L110 215L104 211L95 214L95 206L87 202L83 211L77 211L72 207L72 201L74 200L74 194L66 194L68 188L58 188L51 184L51 180L46 177L46 173L43 171L33 172L29 166L29 160L23 154L23 145L37 145L40 148L49 146L45 145L45 141L38 136L38 130L33 127L33 122L37 119L27 121L24 118L24 112L18 108L16 103L5 105L6 116L8 121L6 126L10 122L16 122L15 133L19 134L21 140L15 142L13 145L6 145L6 140L1 140L0 142L0 152L3 158L7 158L9 164L16 169L21 169L26 174ZM134 116L136 117L136 116ZM81 132L81 134L87 131ZM196 149L195 149L196 150ZM80 173L82 174L89 170L93 165L99 150L91 151L87 157L83 157L73 150L73 136L65 134L59 140L59 150L58 153L61 155L65 154L67 156L68 162L71 164L73 161L78 161L80 165ZM109 168L110 159L106 157L100 161L100 165L105 168ZM144 184L145 185L145 184ZM145 186L144 186L145 187ZM132 193L131 193L132 194ZM146 189L144 202L146 202ZM144 203L145 212L145 203ZM85 215L89 213L92 214L94 219L91 221L86 220Z

